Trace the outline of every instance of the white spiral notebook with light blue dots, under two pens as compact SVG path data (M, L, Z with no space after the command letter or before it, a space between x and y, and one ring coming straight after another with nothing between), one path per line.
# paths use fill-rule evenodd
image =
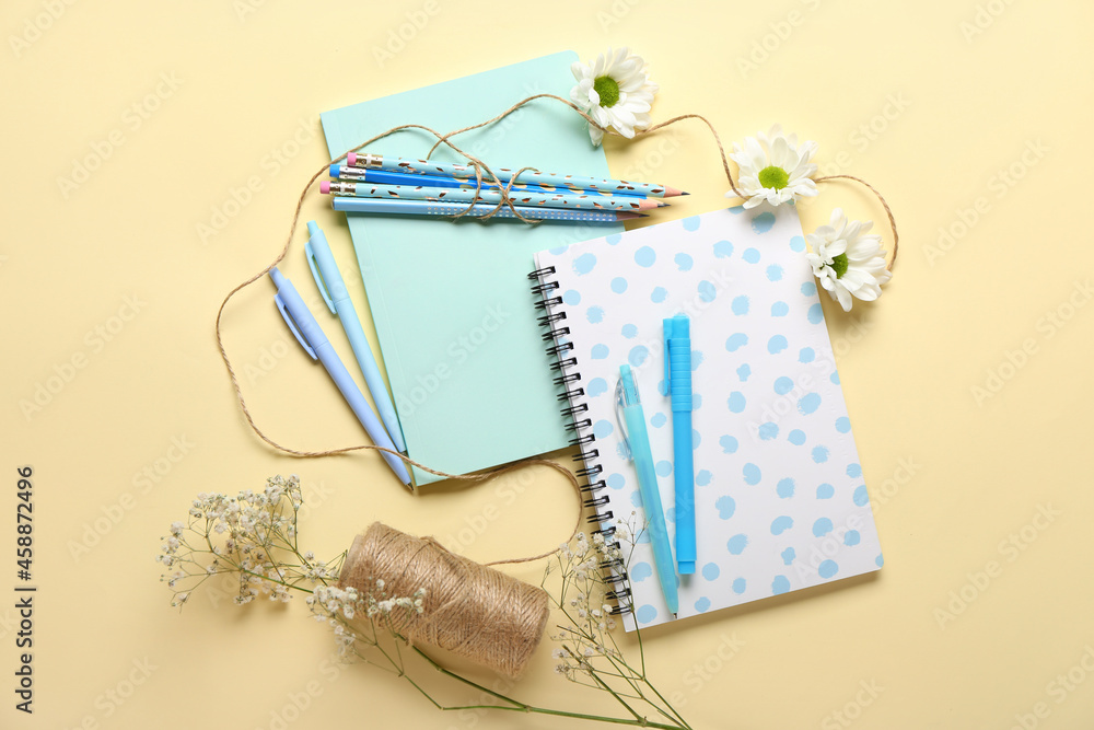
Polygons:
M674 538L662 321L690 317L697 564L678 618L882 565L798 212L718 210L536 255L545 340L600 526L640 530L618 582L628 630L672 621L615 413L635 370ZM569 399L569 404L566 399ZM625 554L627 546L625 545ZM675 555L675 549L674 549ZM616 578L621 578L619 571Z

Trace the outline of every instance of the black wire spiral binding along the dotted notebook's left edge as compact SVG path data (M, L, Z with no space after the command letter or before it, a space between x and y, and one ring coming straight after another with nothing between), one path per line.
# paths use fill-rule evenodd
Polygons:
M532 293L538 298L536 310L543 312L537 320L539 326L545 331L543 340L550 343L546 351L554 360L550 366L551 372L557 373L554 382L560 391L558 402L562 406L559 412L566 419L566 430L573 434L573 438L570 439L570 445L579 449L573 461L582 462L577 475L578 478L584 480L580 487L581 503L594 510L589 519L590 524L595 526L592 534L602 535L609 544L618 546L617 542L610 542L616 532L612 524L615 514L612 510L604 509L610 503L610 500L607 494L602 494L607 488L607 483L601 478L604 467L597 463L601 452L596 448L596 437L592 431L593 421L584 416L589 412L589 404L579 402L579 398L585 395L585 389L581 386L578 358L573 354L573 343L562 339L570 334L570 327L566 325L567 314L562 309L562 297L556 293L559 283L550 278L555 273L554 266L547 266L528 274L528 279L535 282L532 286ZM605 582L610 584L605 598L616 603L610 613L619 615L633 611L630 589L627 587L627 571L622 560L605 560L601 563L600 568L604 573Z

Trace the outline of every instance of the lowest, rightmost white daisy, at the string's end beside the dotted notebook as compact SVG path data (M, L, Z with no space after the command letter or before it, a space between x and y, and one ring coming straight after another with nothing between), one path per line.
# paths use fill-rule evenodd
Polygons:
M805 257L814 276L845 312L851 311L852 297L868 302L881 297L881 286L892 277L881 236L866 234L872 227L872 221L848 222L843 210L836 208L827 225L805 236L813 250Z

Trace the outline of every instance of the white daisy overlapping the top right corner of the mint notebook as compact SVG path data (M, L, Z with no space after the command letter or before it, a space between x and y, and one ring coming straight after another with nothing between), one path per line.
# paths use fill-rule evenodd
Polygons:
M645 61L627 48L601 54L595 61L574 61L570 66L578 84L570 99L602 127L612 127L631 138L636 129L650 126L650 106L657 84L645 73ZM593 144L600 144L604 132L589 128Z

